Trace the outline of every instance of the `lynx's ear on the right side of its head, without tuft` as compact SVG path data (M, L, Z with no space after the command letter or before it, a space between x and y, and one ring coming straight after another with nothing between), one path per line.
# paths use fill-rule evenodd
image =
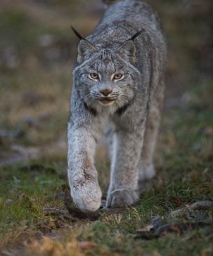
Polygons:
M136 48L133 40L124 41L124 43L117 48L117 53L122 55L125 60L135 62Z

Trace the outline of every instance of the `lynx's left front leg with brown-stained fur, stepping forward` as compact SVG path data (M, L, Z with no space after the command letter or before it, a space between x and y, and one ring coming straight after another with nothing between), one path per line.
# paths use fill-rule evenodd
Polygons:
M90 128L68 124L68 180L73 201L84 212L101 206L101 189L94 168L95 146Z

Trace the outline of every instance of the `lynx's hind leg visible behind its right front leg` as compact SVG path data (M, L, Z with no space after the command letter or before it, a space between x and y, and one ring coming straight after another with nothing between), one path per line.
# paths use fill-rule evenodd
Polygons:
M144 144L139 162L139 183L145 180L151 180L156 174L153 156L163 108L163 91L164 84L161 83L151 97Z

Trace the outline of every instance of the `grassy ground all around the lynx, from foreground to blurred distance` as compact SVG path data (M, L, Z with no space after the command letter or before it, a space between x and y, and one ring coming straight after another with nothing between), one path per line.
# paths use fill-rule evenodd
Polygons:
M43 16L42 23L36 20L35 13L30 15L15 6L1 15L1 25L6 28L6 32L0 32L1 46L7 48L10 42L19 61L15 68L0 63L0 126L10 133L0 137L0 154L8 152L12 158L13 145L33 147L40 152L36 159L0 167L2 253L13 249L12 255L43 256L213 255L210 227L183 235L166 233L151 241L134 239L137 230L145 227L152 217L164 216L187 203L213 198L213 80L203 69L203 65L208 67L207 43L200 39L207 26L205 11L202 9L198 18L193 18L191 13L181 14L179 1L151 3L163 17L170 46L166 107L156 149L158 175L136 206L124 209L123 213L103 214L94 222L43 214L43 208L47 207L65 210L63 192L68 188L63 143L71 88L71 56L77 41L71 36L74 44L66 46L71 48L66 58L44 57L47 50L60 49L60 43L69 40L67 27L61 29L68 17L57 16L60 30L48 18L45 20ZM66 10L67 5L63 1L60 11L72 14L70 7ZM54 5L47 1L39 8L48 9L54 16L59 1L54 1ZM78 5L76 8L80 10ZM89 20L89 27L85 28ZM94 20L98 18L89 15L81 19L80 27L85 29L85 34ZM42 48L38 42L44 34L51 34L60 43ZM22 135L13 135L17 128L22 130ZM106 149L100 146L96 168L104 195L109 166ZM212 220L213 213L198 211L175 221L193 222L196 217Z

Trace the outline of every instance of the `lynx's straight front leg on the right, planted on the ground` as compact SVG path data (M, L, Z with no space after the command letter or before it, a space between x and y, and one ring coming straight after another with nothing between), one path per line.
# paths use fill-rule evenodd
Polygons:
M139 200L137 193L138 161L142 139L141 130L140 133L123 130L115 133L107 207L129 206Z

